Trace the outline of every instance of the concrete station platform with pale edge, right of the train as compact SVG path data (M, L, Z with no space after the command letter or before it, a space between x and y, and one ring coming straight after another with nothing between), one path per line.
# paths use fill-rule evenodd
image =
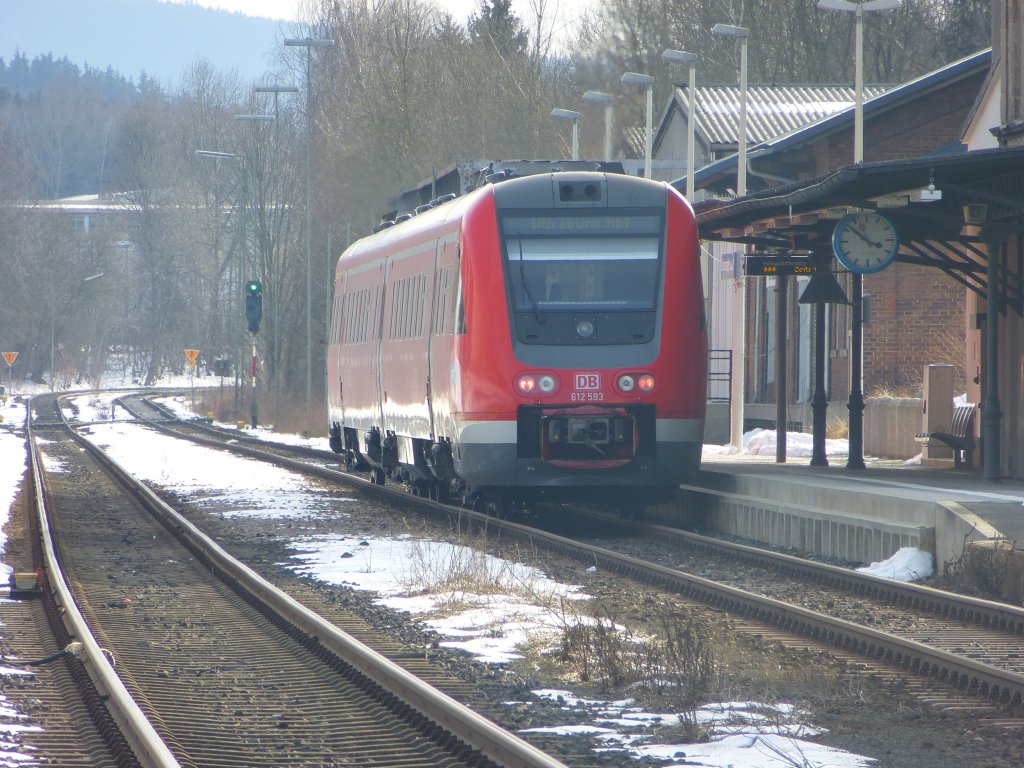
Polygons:
M903 547L932 552L936 570L974 548L1024 548L1024 481L980 468L936 468L865 457L812 467L807 457L708 454L679 500L648 516L850 562L880 562ZM1024 552L1021 553L1024 560ZM1024 564L1022 564L1024 571ZM1024 593L1011 586L1010 597Z

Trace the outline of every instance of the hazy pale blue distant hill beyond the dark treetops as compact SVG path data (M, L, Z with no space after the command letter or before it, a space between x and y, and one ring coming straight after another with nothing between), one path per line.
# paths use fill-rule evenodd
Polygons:
M158 0L2 0L0 57L51 55L136 84L176 82L198 56L247 80L267 69L281 22ZM287 27L287 25L286 25Z

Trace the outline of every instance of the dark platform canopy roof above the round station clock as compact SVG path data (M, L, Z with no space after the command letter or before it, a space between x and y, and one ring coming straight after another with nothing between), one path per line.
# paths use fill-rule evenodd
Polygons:
M843 215L883 211L900 234L897 261L942 269L984 296L983 227L1021 231L1024 146L849 165L742 198L699 201L694 209L701 240L780 255L830 253ZM1019 315L1022 272L1022 264L1000 267L1007 306Z

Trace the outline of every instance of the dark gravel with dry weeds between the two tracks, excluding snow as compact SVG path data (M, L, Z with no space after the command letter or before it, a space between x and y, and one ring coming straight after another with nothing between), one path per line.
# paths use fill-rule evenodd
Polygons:
M391 504L355 496L345 514L317 517L317 534L353 537L387 537L411 534L436 540L454 538L446 529L417 521L411 529L400 510ZM184 502L186 500L179 500ZM288 542L308 534L310 520L252 516L222 517L215 507L189 513L216 535L231 551L279 583L294 580L284 567L289 561ZM638 556L646 554L635 553ZM667 606L680 605L678 598L648 588L626 585L612 574L592 574L586 566L562 557L541 554L541 566L552 579L584 585L592 603L627 626L650 628ZM586 685L564 676L564 668L547 656L527 655L507 666L478 664L469 656L438 646L441 639L425 631L418 622L374 604L364 592L318 585L315 592L328 603L340 602L368 623L386 628L411 648L442 662L455 674L472 681L495 702L493 717L512 729L579 722L583 713L566 713L557 703L538 701L530 707L508 707L501 702L528 699L538 688L566 688L577 695L618 699L636 696L624 691ZM691 607L680 607L690 611ZM732 620L713 610L697 611L712 628L716 640L718 674L714 696L718 700L788 702L808 713L807 721L823 728L824 743L873 758L878 766L893 768L1010 768L1024 764L1024 734L984 723L985 713L944 711L908 692L899 681L865 676L857 665L844 663L833 653L787 647L776 640L735 632ZM768 633L774 635L774 633ZM652 711L666 711L656 696L642 700ZM660 706L659 706L660 705ZM663 734L666 742L679 742ZM582 738L582 737L573 737ZM620 761L625 760L622 756ZM597 762L597 761L595 761ZM643 761L629 761L642 766ZM651 761L649 765L665 765Z

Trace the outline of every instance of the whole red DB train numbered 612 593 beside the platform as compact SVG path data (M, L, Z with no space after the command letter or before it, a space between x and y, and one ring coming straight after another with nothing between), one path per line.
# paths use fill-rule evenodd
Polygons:
M379 483L496 512L671 494L703 436L698 253L672 186L595 172L488 183L354 243L331 447Z

